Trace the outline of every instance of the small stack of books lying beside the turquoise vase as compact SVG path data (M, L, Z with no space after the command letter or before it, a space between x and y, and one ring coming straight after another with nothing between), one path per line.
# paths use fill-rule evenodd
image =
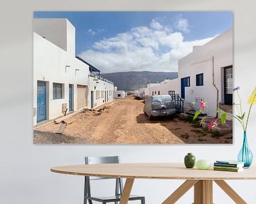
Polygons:
M243 171L244 162L238 161L216 161L213 164L213 169L215 171L233 171L239 172Z

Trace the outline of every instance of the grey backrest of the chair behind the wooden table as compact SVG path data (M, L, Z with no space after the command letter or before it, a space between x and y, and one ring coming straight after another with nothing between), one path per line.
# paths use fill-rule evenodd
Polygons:
M85 157L85 164L119 164L119 156L112 157ZM85 176L85 195L91 196L90 193L90 180L100 180L100 179L115 179L107 177L97 177L97 176ZM116 179L115 185L115 195L122 194L123 183L122 179Z

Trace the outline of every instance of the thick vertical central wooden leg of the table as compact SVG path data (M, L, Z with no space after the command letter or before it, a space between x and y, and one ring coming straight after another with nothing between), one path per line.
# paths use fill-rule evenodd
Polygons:
M200 180L195 184L194 204L213 204L213 181Z

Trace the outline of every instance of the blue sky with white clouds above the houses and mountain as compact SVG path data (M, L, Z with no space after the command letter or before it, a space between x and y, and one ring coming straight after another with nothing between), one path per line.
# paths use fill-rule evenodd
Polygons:
M102 73L177 72L193 45L233 27L228 11L40 11L34 18L68 18L76 28L76 55Z

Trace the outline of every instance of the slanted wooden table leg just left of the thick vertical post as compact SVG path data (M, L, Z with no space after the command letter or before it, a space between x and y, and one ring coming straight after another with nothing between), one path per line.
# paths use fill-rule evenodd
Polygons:
M187 180L179 186L174 193L171 194L162 204L174 204L181 196L183 196L198 180Z

